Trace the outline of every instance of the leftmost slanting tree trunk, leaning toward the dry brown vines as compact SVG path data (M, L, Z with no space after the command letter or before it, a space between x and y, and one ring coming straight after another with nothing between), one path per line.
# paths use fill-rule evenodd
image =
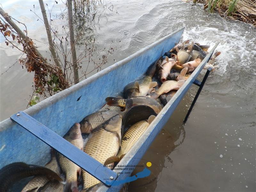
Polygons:
M0 7L0 14L4 17L4 19L12 26L12 28L19 34L19 36L26 40L27 36L20 30L20 28L12 21L11 17L8 15L8 13L4 12L4 10ZM36 51L36 53L41 57L41 59L49 64L43 57L43 55L41 55L41 53L36 49L36 47L34 46L34 49Z

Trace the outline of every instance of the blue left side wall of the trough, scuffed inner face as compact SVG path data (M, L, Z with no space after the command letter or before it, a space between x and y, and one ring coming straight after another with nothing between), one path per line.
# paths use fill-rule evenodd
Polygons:
M144 74L150 64L180 41L183 30L163 37L24 112L63 136L74 123L98 110L106 97L117 96L126 84ZM162 113L158 118L163 119L163 127L169 116ZM50 159L49 146L10 118L0 123L0 141L0 168L13 162L44 165Z

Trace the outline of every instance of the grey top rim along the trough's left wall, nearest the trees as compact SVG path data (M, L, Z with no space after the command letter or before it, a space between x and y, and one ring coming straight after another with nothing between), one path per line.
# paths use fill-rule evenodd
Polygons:
M94 80L96 80L97 78L99 78L100 76L104 76L105 74L108 74L110 71L121 67L123 65L125 65L126 63L128 63L129 61L131 61L132 59L139 57L141 54L143 54L144 52L148 51L149 49L151 49L153 46L156 46L160 43L162 43L165 39L170 38L171 36L175 35L176 33L179 33L181 30L184 30L185 27L182 27L174 32L172 32L171 34L162 37L161 39L159 39L158 41L140 49L139 51L133 53L132 55L126 57L123 60L120 60L116 63L114 63L113 65L110 65L109 67L103 69L102 71L84 79L83 81L79 82L78 84L75 84L61 92L56 93L55 95L52 95L51 97L46 98L45 100L37 103L36 105L25 109L24 112L27 113L30 116L33 116L34 114L40 112L40 110L52 105L53 103L61 100L63 97L67 97L68 95L72 94L73 92L76 92L77 90L79 90L80 88L92 83ZM3 120L0 122L0 132L4 131L6 129L6 127L11 127L12 124L15 124L14 122L12 122L12 120L9 118Z

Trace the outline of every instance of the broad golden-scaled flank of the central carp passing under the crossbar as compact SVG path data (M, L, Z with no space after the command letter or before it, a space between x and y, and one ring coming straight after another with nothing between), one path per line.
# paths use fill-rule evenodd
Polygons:
M120 127L121 130L121 127ZM104 163L110 156L115 156L119 149L120 140L116 132L109 132L102 127L95 129L88 137L84 146L84 152ZM90 188L98 183L99 180L82 170L84 189Z

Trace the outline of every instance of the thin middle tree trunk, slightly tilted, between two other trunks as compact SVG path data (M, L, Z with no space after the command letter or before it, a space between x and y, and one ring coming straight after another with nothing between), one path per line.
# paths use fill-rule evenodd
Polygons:
M42 15L43 15L43 18L44 18L44 26L45 26L47 37L48 37L49 50L52 53L52 58L53 58L55 64L59 68L61 68L60 61L59 61L59 59L58 59L58 57L57 57L57 55L55 53L55 49L54 49L54 46L53 46L51 29L50 29L50 25L49 25L49 22L48 22L48 19L47 19L47 15L46 15L46 11L45 11L45 8L44 8L44 1L43 0L39 0L39 4L40 4Z

